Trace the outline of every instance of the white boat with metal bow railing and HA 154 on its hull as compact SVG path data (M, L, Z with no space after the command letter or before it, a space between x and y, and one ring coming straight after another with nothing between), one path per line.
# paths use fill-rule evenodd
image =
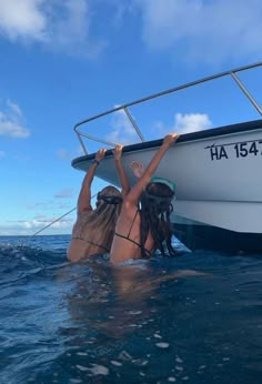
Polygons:
M162 143L144 141L129 108L179 90L221 77L231 77L262 115L262 110L236 77L238 72L261 67L262 62L222 72L192 83L118 107L79 122L74 131L84 155L72 161L72 166L87 171L95 153L88 153L83 139L95 140L113 148L115 144L94 138L80 125L104 115L124 111L141 140L123 149L123 164L129 172L131 161L145 166ZM85 140L84 139L84 140ZM183 134L161 161L155 176L171 180L177 185L172 223L174 235L188 247L225 251L262 251L262 120ZM119 185L112 150L97 170L97 175Z

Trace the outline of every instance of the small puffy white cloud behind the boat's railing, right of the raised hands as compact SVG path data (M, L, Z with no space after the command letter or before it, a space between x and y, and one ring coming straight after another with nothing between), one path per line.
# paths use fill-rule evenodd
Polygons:
M177 113L174 115L174 125L171 131L183 134L203 131L210 128L212 128L212 122L205 113Z

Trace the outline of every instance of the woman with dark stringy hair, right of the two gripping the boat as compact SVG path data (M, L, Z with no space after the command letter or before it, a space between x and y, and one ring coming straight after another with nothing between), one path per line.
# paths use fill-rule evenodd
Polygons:
M174 191L165 183L153 182L151 179L161 159L178 138L177 133L164 138L144 173L127 194L110 251L113 264L129 259L149 257L157 249L164 254L164 242L169 254L175 254L171 245L170 224Z

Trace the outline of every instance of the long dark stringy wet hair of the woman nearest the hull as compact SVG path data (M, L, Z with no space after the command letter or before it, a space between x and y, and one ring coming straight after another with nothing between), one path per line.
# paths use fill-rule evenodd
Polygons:
M164 243L170 256L174 256L177 254L171 244L172 228L170 214L173 211L173 198L174 192L172 189L161 182L151 182L143 191L140 200L140 241L143 257L147 257L144 244L149 232L152 234L154 240L155 250L159 250L162 255L167 255Z

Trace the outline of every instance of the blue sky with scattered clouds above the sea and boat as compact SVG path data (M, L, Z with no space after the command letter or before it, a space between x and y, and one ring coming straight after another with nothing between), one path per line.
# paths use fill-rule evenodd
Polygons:
M0 235L33 234L75 206L77 122L261 61L261 20L260 0L0 0ZM261 104L262 69L240 78ZM222 79L158 105L132 110L147 139L259 119ZM121 113L98 129L138 141ZM71 233L74 220L41 234Z

